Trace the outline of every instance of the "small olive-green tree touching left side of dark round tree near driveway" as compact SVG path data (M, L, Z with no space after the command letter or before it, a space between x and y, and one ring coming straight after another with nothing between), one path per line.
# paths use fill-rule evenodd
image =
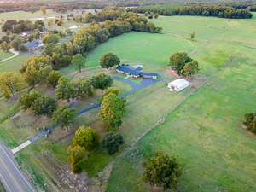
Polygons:
M32 90L29 94L20 96L19 102L21 108L26 111L26 109L31 108L32 103L35 102L40 96L42 96L38 91Z

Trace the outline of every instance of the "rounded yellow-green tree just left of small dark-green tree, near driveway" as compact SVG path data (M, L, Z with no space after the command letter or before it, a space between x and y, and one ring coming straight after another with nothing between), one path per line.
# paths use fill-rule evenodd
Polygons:
M80 126L72 139L73 146L80 146L86 149L93 149L99 144L99 136L89 126Z

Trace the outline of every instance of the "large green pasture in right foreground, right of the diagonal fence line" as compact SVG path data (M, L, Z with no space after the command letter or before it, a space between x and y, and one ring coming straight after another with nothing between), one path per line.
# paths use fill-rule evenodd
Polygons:
M178 191L255 191L255 137L241 122L256 108L256 56L243 49L113 166L107 191L153 191L139 181L155 150L183 166ZM124 176L125 177L122 177Z

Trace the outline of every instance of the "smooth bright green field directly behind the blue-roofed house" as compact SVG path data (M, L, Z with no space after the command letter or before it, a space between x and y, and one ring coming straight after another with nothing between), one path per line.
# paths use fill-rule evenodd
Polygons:
M190 52L200 46L203 40L189 41L164 34L129 32L101 44L86 56L86 67L100 65L103 54L112 52L120 59L146 61L157 65L168 65L170 56L177 51ZM67 75L75 71L73 66L61 70Z

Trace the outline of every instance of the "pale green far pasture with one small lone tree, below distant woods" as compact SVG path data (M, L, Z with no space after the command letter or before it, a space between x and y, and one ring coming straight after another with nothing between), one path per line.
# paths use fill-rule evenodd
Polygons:
M238 44L256 44L256 13L249 20L231 20L202 16L161 16L152 20L162 26L164 33L172 33L190 38L195 31L196 38L212 38Z

